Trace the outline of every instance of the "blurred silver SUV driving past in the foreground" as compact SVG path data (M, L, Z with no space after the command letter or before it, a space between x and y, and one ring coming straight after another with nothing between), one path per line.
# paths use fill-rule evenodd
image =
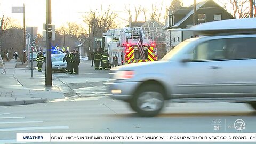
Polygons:
M157 115L165 100L244 102L256 109L256 33L233 32L188 39L159 61L114 67L111 97L145 117Z

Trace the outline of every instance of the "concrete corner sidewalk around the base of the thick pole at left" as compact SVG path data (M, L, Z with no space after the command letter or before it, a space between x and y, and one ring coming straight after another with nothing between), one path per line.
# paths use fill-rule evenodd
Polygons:
M20 63L14 59L4 63L7 74L0 74L0 106L26 105L65 98L54 84L52 87L44 86L44 73L33 70L31 77L31 69L15 68Z

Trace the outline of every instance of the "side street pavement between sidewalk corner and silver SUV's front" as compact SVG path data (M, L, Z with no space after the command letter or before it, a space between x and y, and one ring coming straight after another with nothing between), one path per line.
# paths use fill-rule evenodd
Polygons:
M99 97L106 96L108 70L95 70L91 61L81 61L79 75L54 73L53 81L60 87L65 97Z

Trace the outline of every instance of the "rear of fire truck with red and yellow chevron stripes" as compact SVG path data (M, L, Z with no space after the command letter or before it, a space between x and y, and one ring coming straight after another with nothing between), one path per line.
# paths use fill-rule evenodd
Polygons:
M143 59L140 58L137 46L140 31L143 37L143 50L145 53ZM110 29L103 33L103 39L105 39L109 63L112 66L157 60L156 44L151 39L144 37L141 27Z

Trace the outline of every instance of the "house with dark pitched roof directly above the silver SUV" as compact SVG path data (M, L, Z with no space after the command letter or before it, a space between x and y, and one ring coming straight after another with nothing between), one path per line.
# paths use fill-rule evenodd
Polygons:
M166 52L169 52L173 47L177 46L180 42L194 37L193 31L170 31L171 29L183 29L193 26L194 5L189 7L180 7L175 12L169 11L167 20L167 33L166 33ZM195 25L205 22L234 19L223 7L215 3L213 0L205 0L196 3Z

